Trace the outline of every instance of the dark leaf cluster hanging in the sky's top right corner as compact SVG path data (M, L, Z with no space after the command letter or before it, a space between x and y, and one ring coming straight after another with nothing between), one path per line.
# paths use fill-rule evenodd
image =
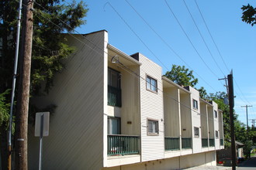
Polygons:
M241 17L242 21L246 22L247 24L251 24L251 26L254 26L256 23L256 8L248 4L243 5L241 9L243 10L243 15Z

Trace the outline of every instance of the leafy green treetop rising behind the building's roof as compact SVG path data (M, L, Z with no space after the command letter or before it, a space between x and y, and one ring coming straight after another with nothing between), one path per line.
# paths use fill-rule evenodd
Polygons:
M173 64L171 71L167 71L164 76L178 83L180 86L195 87L195 84L198 83L198 79L193 75L193 71L185 68L185 66L176 66Z

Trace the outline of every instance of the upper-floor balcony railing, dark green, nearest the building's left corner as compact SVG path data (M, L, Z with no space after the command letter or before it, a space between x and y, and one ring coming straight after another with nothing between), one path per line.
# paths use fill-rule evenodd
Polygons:
M122 90L117 87L108 86L108 105L122 107Z

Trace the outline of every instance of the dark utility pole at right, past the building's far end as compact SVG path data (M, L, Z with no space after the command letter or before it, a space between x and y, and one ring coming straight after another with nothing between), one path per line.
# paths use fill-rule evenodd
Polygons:
M237 153L236 153L236 143L234 136L234 86L233 86L233 73L227 75L228 81L228 92L229 92L229 103L230 103L230 132L231 132L231 153L232 153L232 170L236 169Z

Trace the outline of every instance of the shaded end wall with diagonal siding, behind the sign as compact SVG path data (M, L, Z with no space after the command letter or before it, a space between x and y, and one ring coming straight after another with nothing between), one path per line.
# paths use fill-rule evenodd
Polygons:
M86 37L104 49L106 34L102 31ZM76 37L87 42L79 35ZM50 134L43 138L43 169L100 169L106 59L102 50L96 53L74 38L67 39L77 47L77 52L67 60L66 69L54 78L50 93L35 100L38 107L57 105L50 115ZM35 151L38 138L30 134L29 144L29 151ZM37 162L35 152L29 153L29 169L36 169Z

